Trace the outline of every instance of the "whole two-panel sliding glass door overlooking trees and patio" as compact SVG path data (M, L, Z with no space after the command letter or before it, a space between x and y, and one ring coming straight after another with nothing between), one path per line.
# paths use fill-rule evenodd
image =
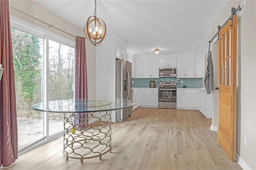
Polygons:
M64 115L34 111L36 103L73 99L74 46L34 29L11 28L19 151L63 134Z

